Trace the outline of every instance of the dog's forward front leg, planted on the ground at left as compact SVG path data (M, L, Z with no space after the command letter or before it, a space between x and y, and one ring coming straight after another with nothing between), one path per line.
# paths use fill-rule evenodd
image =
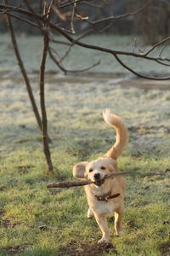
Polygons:
M97 223L99 224L99 228L102 231L102 238L98 241L98 243L107 243L109 242L109 238L110 238L110 231L107 225L107 218L105 216L105 214L96 214L94 213L94 217L97 221Z

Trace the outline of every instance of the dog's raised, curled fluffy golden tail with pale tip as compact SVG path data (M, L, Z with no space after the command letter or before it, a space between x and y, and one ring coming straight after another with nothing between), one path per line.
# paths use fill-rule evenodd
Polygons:
M122 154L128 140L128 131L122 119L116 114L111 114L109 109L103 111L105 122L116 129L116 143L105 154L107 157L117 159Z

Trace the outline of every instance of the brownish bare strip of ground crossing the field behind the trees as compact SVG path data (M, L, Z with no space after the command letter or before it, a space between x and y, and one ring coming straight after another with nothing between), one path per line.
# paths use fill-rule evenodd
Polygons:
M29 74L31 82L37 83L37 73ZM149 76L149 75L148 75ZM8 73L3 76L3 81L11 79L14 83L20 83L20 73ZM140 79L132 74L123 73L77 73L64 75L62 73L46 73L46 82L49 84L88 84L99 83L109 85L120 85L122 88L139 88L143 90L170 90L169 80ZM5 84L6 86L6 84Z

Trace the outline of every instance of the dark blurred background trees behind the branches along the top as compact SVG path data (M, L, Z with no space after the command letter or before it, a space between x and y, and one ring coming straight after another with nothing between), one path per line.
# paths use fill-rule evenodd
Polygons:
M1 1L3 3L3 1ZM32 9L37 13L42 13L43 1L29 1ZM59 1L56 1L59 3ZM65 4L68 1L60 1ZM148 0L103 0L103 1L82 1L77 5L77 13L82 16L88 16L89 20L100 20L111 15L123 15L129 10L139 9L144 3L148 3ZM8 4L14 6L20 6L20 0L9 0ZM59 15L52 17L53 22L62 26L67 23L65 29L70 29L70 6L60 9ZM63 15L63 16L62 16ZM21 17L28 17L20 14ZM6 22L3 16L0 16L0 30L1 32L7 31ZM32 18L29 18L32 20ZM85 20L75 21L75 29L77 32L83 32L90 27L90 24ZM102 24L103 26L103 24ZM105 21L105 26L108 26L106 32L117 34L137 34L142 35L143 44L156 44L163 38L166 38L170 32L170 3L169 0L152 0L146 9L140 12L138 15L129 15L120 20ZM100 26L96 26L96 32L99 32ZM40 33L33 26L27 26L26 23L20 22L20 20L14 19L14 29L18 32L26 32L31 34Z

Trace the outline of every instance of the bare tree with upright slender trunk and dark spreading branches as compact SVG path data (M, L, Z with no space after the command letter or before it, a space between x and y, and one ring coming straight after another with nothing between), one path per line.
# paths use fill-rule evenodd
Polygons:
M162 49L158 55L152 55L153 50L158 46L166 47L165 44L170 40L170 37L163 38L161 41L158 41L156 44L150 46L150 49L144 50L143 52L135 52L134 48L131 51L124 50L115 50L110 48L104 48L99 45L88 44L82 41L82 38L86 37L89 33L92 32L104 32L107 29L110 29L115 21L125 19L129 16L142 15L150 7L152 0L144 0L142 4L137 9L130 9L127 6L127 11L122 15L108 15L104 18L94 19L93 15L88 13L82 13L83 6L90 6L90 9L103 9L105 4L110 2L107 0L100 1L82 1L82 0L42 0L38 2L39 8L35 8L32 4L33 2L24 0L20 1L20 5L9 5L7 3L0 4L0 14L8 15L8 17L13 17L14 19L20 20L20 22L26 23L28 26L33 26L37 28L43 37L43 49L42 49L42 61L39 73L39 85L40 85L40 104L42 111L42 142L43 150L46 156L48 163L48 170L53 170L52 160L50 157L50 151L48 148L48 119L45 108L45 94L44 94L44 75L45 75L45 63L47 55L52 58L54 63L59 67L64 73L77 73L87 71L89 68L99 65L99 62L94 63L90 67L86 67L83 70L67 70L62 61L70 54L71 48L75 45L78 45L82 48L94 49L96 51L104 52L113 56L120 63L123 68L126 68L129 72L139 76L144 79L156 79L156 80L167 80L170 79L170 76L167 77L153 77L145 75L144 73L139 73L132 67L129 67L128 64L125 64L122 61L122 56L127 55L131 58L139 58L146 61L153 61L159 65L170 66L170 58L167 56L162 56ZM79 7L82 7L81 9ZM57 23L55 22L57 20ZM80 26L78 26L80 24ZM77 38L74 36L77 34ZM59 41L56 39L56 34L59 34L63 37L64 40ZM59 57L59 54L54 47L51 47L53 44L64 44L65 55Z

